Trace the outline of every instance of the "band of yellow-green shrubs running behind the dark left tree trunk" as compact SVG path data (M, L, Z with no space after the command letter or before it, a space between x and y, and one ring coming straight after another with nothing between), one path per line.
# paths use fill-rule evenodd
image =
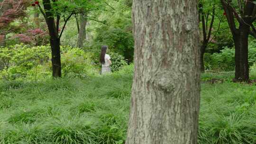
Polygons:
M49 46L14 45L0 49L0 62L4 69L0 78L28 81L45 80L51 77L51 51ZM78 48L61 46L63 76L85 77L97 73L91 62L91 53Z

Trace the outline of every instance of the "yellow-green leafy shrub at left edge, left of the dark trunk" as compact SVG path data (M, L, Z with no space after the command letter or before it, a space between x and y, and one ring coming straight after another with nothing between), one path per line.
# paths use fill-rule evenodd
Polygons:
M0 61L5 63L5 68L0 72L3 79L15 80L26 77L27 72L37 65L49 61L49 46L14 45L0 49Z

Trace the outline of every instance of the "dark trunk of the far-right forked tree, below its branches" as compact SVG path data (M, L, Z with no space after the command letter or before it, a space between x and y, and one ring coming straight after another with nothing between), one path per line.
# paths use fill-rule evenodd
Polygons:
M248 35L250 27L240 24L238 33L234 36L235 41L235 79L236 81L249 81L248 64Z

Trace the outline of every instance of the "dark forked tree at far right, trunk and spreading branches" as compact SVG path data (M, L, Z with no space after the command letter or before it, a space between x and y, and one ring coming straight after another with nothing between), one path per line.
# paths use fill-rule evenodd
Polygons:
M235 81L249 81L248 36L256 37L255 0L220 0L235 43ZM237 22L236 22L236 20ZM236 24L238 23L238 26Z

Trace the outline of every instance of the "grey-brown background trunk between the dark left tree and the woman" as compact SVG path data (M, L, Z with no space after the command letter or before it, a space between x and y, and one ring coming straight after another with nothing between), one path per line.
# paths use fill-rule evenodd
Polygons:
M86 23L87 23L86 14L85 13L80 14L80 29L79 29L79 35L78 35L78 41L77 41L77 47L79 48L83 47L84 40L86 39Z

